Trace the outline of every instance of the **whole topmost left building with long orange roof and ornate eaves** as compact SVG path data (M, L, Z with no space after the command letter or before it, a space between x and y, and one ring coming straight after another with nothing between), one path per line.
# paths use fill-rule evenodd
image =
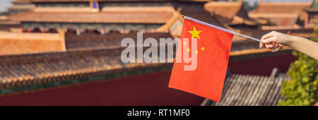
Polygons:
M30 2L36 6L33 11L8 16L10 20L20 20L25 32L59 28L75 30L78 34L86 30L96 30L102 34L110 30L167 31L173 29L168 27L182 24L180 21L175 21L176 12L223 26L204 10L206 1L201 0L30 0ZM170 20L172 22L169 22ZM165 25L167 23L169 26Z

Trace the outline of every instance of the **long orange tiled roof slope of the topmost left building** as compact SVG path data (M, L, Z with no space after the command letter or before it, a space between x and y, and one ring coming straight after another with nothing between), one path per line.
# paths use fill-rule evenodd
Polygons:
M65 11L67 10L65 8ZM114 8L113 11L98 13L91 12L64 12L62 10L50 9L47 11L30 11L8 16L10 20L21 20L30 22L62 22L62 23L166 23L173 16L172 8Z

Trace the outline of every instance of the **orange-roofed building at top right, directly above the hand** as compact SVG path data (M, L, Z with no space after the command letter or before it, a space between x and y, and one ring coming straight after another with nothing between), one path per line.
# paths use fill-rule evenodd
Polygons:
M263 2L253 11L249 12L249 17L268 20L266 30L276 26L283 29L300 28L304 24L305 11L311 2Z

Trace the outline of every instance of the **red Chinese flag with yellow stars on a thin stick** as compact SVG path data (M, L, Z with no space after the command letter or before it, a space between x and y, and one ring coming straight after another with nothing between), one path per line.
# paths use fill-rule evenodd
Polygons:
M230 32L185 19L180 36L182 44L178 46L182 46L183 50L177 52L176 56L184 53L184 47L188 47L186 49L189 56L192 52L197 56L197 66L194 71L184 71L184 66L192 63L186 64L183 57L181 63L177 63L175 59L169 87L220 102L232 37ZM189 38L189 43L184 38ZM193 38L197 40L197 49L191 49Z

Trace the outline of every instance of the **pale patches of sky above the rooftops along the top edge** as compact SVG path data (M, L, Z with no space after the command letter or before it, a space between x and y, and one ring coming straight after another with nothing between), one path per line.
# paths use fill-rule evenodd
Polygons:
M11 1L14 0L0 0L0 11L6 11L6 8L12 6ZM244 1L249 1L249 3L252 5L254 2L258 0L244 0ZM263 0L264 2L268 1L312 1L312 0Z

